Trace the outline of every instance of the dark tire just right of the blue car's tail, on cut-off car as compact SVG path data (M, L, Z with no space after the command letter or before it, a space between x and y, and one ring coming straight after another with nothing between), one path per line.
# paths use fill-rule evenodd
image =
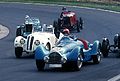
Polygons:
M109 40L103 40L101 45L101 53L103 54L103 57L108 57L109 48Z

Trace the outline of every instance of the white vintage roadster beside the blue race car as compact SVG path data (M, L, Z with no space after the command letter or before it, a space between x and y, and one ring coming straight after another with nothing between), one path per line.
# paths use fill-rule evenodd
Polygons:
M59 38L63 36L60 33ZM35 49L42 44L46 49L50 50L54 44L59 40L54 34L54 28L52 25L43 25L34 28L34 31L27 37L17 36L14 41L15 56L20 58L23 52L34 53Z

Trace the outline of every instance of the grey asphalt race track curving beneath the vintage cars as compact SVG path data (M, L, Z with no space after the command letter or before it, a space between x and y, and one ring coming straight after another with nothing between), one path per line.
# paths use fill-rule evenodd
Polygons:
M112 42L115 33L119 32L120 14L98 10L68 8L83 17L85 27L74 35L91 43L103 37ZM60 69L46 69L38 72L33 56L16 59L13 41L18 24L23 23L26 14L38 17L41 23L52 24L61 12L61 7L24 4L0 4L0 23L9 28L9 35L0 40L0 81L107 81L120 74L120 56L110 54L102 58L101 63L94 65L85 63L80 71L68 72Z

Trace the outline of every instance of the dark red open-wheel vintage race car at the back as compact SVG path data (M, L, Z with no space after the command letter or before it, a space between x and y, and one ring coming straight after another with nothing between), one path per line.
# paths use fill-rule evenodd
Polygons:
M65 11L61 13L58 21L54 21L53 26L57 27L60 31L67 28L69 30L75 29L77 32L80 32L80 30L83 29L83 19L81 17L77 19L75 12Z

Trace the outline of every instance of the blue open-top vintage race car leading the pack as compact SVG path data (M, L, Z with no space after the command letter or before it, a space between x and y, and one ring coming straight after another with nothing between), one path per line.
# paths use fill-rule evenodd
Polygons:
M83 62L93 61L98 64L101 59L100 43L98 40L89 44L86 40L73 39L63 36L50 50L40 45L35 50L36 66L39 71L44 70L45 64L49 67L80 70Z

